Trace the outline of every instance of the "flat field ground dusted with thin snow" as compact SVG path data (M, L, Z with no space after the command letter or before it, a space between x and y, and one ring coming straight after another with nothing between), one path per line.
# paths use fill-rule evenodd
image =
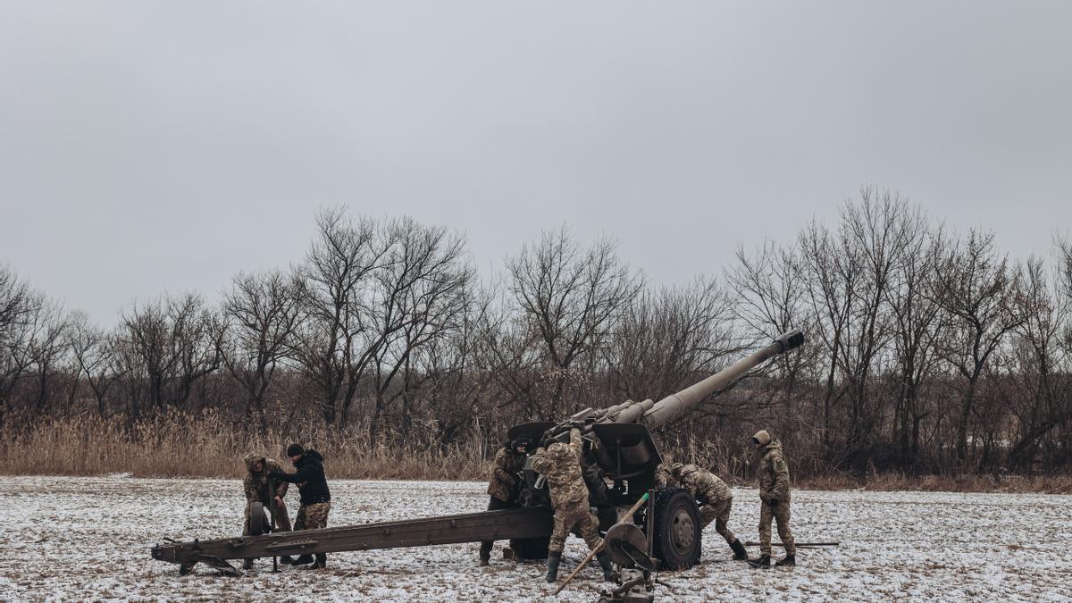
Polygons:
M479 511L483 485L331 482L330 525ZM296 505L296 496L288 504ZM754 489L734 492L731 529L756 540ZM241 531L235 481L124 476L0 477L0 601L533 601L553 600L541 563L476 563L476 546L452 545L332 555L326 572L270 561L238 578L153 561L165 536L220 538ZM291 508L293 513L295 508ZM1072 497L926 492L796 491L798 541L840 541L802 549L795 569L731 562L712 528L697 568L662 574L657 601L736 600L1069 600ZM755 548L750 549L755 553ZM567 543L564 572L585 553ZM592 601L593 564L560 595Z

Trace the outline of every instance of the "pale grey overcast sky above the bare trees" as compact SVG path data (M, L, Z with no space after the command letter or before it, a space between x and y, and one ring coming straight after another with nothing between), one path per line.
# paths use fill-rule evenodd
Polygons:
M299 260L317 207L563 222L656 282L861 185L1072 229L1072 2L0 3L0 262L111 324Z

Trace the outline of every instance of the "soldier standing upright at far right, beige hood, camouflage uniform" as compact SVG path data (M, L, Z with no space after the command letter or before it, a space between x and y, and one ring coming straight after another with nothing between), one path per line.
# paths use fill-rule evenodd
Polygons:
M757 568L771 567L771 518L778 523L778 538L786 547L786 557L775 565L795 565L796 546L789 531L789 466L781 454L781 442L766 430L751 437L759 454L759 558L749 561Z

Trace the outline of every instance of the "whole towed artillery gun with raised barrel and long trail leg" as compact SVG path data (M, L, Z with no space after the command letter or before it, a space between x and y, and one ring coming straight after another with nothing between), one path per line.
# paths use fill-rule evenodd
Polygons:
M709 396L732 386L756 366L800 347L799 330L780 335L764 348L739 359L711 377L659 401L626 400L606 409L584 409L561 423L537 422L512 427L508 438L527 436L533 441L564 441L569 430L580 428L585 441L583 465L591 500L597 509L600 531L608 533L608 549L619 558L632 558L645 571L691 568L700 558L700 518L696 500L685 490L655 488L656 468L661 462L651 430L681 417ZM631 517L628 510L649 494L646 508ZM187 574L198 562L225 572L234 571L228 559L279 557L314 553L371 550L407 546L431 546L509 540L521 559L547 557L552 510L542 477L525 466L519 506L461 515L381 521L358 526L265 534L254 521L254 535L169 542L153 546L153 559L179 564ZM642 516L640 516L642 515ZM256 515L259 516L259 515ZM639 517L638 517L639 516ZM625 526L625 529L620 524ZM612 527L617 529L610 532ZM641 535L638 536L638 531ZM615 536L615 534L623 534ZM643 543L641 542L643 541ZM640 546L647 550L641 550ZM643 553L643 555L639 555ZM643 557L643 558L641 558Z

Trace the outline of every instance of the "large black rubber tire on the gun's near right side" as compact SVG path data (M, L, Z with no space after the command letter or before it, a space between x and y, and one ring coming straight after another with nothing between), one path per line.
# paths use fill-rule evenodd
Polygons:
M691 530L688 521L693 524ZM655 492L654 541L659 569L676 572L696 565L700 561L701 535L700 509L691 495L681 488Z

